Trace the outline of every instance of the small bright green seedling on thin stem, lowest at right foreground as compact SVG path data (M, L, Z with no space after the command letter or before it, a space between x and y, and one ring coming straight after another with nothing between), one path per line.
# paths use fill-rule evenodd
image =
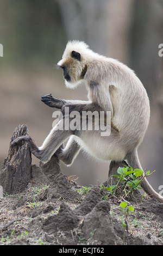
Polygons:
M125 230L127 230L128 232L128 223L127 223L127 218L130 214L133 214L134 213L134 207L129 205L127 206L127 202L122 202L120 204L120 208L119 208L120 211L123 212L123 215L125 216L123 219L122 219L122 227L124 229L123 231L123 243L124 243L124 240L125 240Z

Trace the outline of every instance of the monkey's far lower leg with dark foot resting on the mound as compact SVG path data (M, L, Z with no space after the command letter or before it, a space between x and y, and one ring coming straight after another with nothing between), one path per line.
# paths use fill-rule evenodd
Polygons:
M80 145L74 140L73 136L68 139L66 147L58 153L58 157L66 165L71 165L80 151Z

